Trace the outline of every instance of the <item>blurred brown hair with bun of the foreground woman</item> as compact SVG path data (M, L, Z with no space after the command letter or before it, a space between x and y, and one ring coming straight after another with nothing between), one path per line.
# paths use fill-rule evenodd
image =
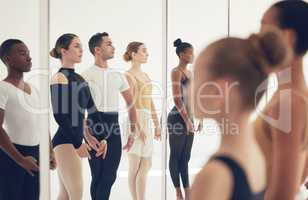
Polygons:
M254 108L264 93L258 87L275 67L286 64L289 55L278 31L253 34L248 39L224 38L210 46L214 45L213 56L206 61L206 73L212 80L230 78L238 82L243 109Z

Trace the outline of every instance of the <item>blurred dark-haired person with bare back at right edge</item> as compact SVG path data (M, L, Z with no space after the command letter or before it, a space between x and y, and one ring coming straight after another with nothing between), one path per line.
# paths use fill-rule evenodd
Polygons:
M308 156L307 86L303 73L303 58L308 49L308 3L301 0L279 1L262 18L262 27L278 27L288 47L292 62L288 68L290 81L278 76L278 90L263 113L275 119L270 123L259 117L255 122L256 138L267 163L266 200L293 200L307 174L304 172ZM289 91L288 96L283 95ZM285 97L282 97L285 96ZM283 112L279 108L289 107ZM290 125L290 130L286 125ZM292 162L290 162L292 161Z

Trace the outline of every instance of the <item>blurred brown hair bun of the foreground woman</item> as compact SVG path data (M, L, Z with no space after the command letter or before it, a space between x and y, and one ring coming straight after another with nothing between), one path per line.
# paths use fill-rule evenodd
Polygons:
M260 53L260 59L267 68L274 68L286 63L288 49L282 33L276 29L269 29L259 34L252 34L248 40Z

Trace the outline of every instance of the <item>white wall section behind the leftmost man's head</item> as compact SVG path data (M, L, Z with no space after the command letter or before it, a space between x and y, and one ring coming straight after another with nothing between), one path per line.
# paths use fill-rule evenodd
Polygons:
M0 0L0 43L9 38L20 39L25 42L32 57L32 71L38 68L39 60L39 0L31 3L26 1ZM4 17L5 16L5 17ZM33 73L28 73L26 77ZM7 75L6 66L0 62L0 79Z

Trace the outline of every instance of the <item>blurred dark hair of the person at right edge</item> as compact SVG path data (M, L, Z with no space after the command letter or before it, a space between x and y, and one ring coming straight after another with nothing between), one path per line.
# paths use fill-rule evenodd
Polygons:
M295 53L304 55L308 50L308 3L302 0L284 0L273 5L278 10L278 23L282 29L296 34Z

